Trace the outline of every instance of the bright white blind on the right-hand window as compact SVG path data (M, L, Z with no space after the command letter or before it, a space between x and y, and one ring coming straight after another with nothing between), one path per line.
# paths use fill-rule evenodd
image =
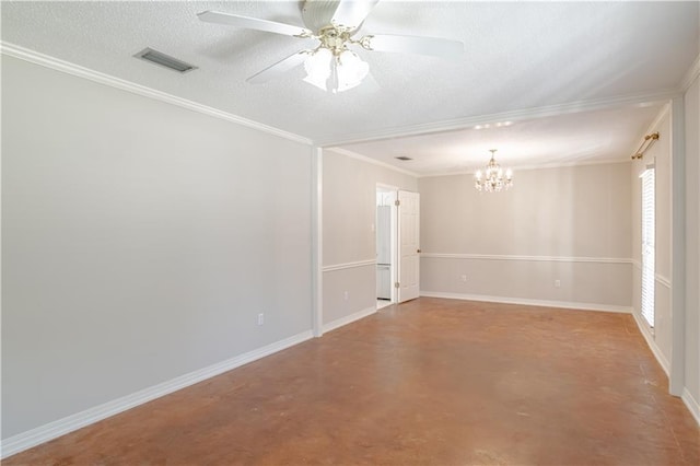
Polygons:
M642 174L642 317L654 327L655 195L654 168Z

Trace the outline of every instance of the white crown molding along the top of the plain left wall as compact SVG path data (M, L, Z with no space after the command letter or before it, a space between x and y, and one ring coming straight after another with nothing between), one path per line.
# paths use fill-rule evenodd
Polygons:
M109 74L101 73L98 71L91 70L68 61L60 60L58 58L50 57L48 55L39 54L38 51L31 50L28 48L20 47L7 42L0 42L0 53L10 57L19 58L24 61L28 61L35 65L39 65L46 68L50 68L56 71L61 71L68 74L72 74L79 78L83 78L90 81L98 82L112 88L120 89L122 91L131 92L133 94L142 95L144 97L154 98L156 101L166 102L168 104L177 105L183 108L199 112L205 115L212 116L214 118L232 121L241 126L257 129L268 135L278 136L280 138L288 139L294 142L301 142L303 144L311 145L313 141L303 136L294 135L289 131L284 131L271 126L262 125L257 121L253 121L247 118L243 118L226 112L219 110L217 108L208 107L206 105L198 104L192 101L188 101L175 95L166 94L165 92L156 91L144 85L136 84L130 81L126 81L119 78L112 77Z

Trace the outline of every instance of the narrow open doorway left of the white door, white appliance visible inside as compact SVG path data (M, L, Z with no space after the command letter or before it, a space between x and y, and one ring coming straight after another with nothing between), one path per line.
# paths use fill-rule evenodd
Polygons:
M376 308L396 302L396 237L398 188L377 185L376 187Z

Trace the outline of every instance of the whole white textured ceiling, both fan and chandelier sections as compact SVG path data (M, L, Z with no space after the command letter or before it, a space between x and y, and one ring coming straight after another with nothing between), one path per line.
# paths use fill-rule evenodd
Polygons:
M397 166L419 174L470 170L469 158L485 159L491 147L521 165L629 156L658 113L658 95L678 89L700 48L698 2L383 0L361 34L458 39L465 44L464 56L443 60L358 50L372 78L328 94L303 82L301 68L265 84L245 82L314 40L197 19L198 12L218 10L301 26L298 1L3 1L1 8L4 43L319 144L342 145L392 164L398 162L396 154L408 154L416 158L413 165ZM180 75L135 59L144 47L199 69ZM606 108L606 102L621 100L653 105ZM592 102L604 104L595 113L571 114L576 105L586 108ZM560 118L521 118L498 130L469 129L475 121L545 107L568 110ZM466 129L394 137L441 126ZM551 136L556 132L561 135Z

